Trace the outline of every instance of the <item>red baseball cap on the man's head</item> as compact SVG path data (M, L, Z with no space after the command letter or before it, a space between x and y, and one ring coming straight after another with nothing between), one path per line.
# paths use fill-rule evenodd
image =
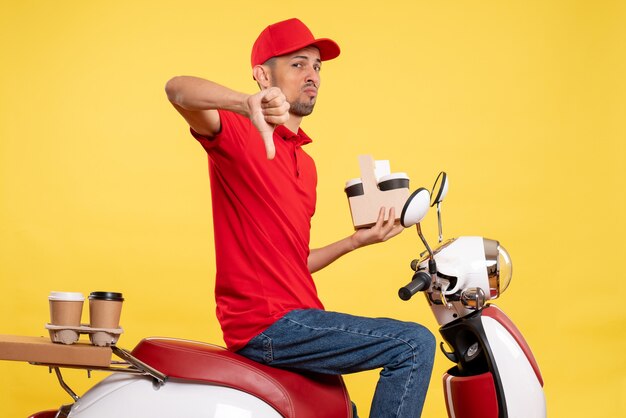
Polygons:
M252 67L307 46L320 50L322 61L337 58L339 45L328 38L315 39L299 19L288 19L266 27L252 46Z

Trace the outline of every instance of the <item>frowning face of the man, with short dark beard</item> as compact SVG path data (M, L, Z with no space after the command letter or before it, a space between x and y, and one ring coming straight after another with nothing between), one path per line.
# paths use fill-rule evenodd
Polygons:
M270 83L282 90L291 105L289 113L310 115L320 86L322 61L319 50L310 46L273 61L269 71Z

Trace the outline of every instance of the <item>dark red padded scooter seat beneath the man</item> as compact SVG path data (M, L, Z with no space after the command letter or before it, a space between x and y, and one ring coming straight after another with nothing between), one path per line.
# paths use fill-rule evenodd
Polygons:
M168 377L212 383L262 399L285 418L351 418L341 376L265 366L212 344L146 338L132 355Z

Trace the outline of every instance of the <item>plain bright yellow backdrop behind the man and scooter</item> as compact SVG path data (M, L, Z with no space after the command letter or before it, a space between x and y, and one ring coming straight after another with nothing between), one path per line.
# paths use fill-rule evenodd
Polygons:
M206 157L165 99L179 74L254 92L249 51L298 16L343 52L303 127L319 171L313 245L350 233L357 155L412 188L451 179L446 236L499 239L498 304L525 334L550 417L626 409L626 3L5 1L0 12L0 333L43 335L51 290L124 293L125 334L222 343ZM435 216L424 229L435 240ZM402 302L414 231L316 274L328 309L419 321ZM251 257L254 255L251 254ZM84 320L86 320L86 310ZM445 417L437 354L425 417ZM101 378L68 372L82 393ZM377 372L346 378L367 416ZM0 415L70 398L0 362Z

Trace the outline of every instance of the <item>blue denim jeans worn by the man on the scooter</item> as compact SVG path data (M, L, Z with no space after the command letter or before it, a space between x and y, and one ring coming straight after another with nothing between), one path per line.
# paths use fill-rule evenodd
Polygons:
M419 417L435 338L412 322L305 309L289 312L238 353L295 371L347 374L382 368L370 417Z

